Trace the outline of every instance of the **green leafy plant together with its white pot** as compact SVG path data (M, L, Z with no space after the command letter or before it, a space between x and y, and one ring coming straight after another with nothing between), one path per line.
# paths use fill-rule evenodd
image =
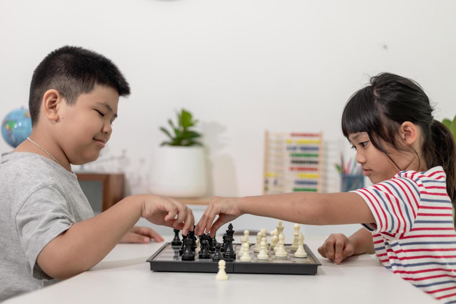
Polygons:
M206 165L204 149L198 141L201 134L192 128L197 124L184 109L177 113L174 124L168 119L171 131L160 130L168 139L161 143L152 160L150 192L171 197L201 197L206 194Z

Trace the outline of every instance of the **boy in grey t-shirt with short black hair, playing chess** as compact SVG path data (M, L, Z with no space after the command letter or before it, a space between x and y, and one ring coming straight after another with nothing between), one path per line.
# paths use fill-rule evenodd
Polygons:
M71 164L98 158L119 96L129 94L114 63L81 47L59 48L36 67L32 133L0 160L0 302L88 270L121 240L162 241L133 228L140 217L184 234L193 228L192 211L171 198L130 196L93 216L81 191Z

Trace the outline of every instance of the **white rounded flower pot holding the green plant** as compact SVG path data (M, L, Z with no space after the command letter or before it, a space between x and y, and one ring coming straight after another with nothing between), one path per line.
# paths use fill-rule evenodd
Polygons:
M206 194L206 162L202 147L164 146L152 159L150 192L171 197Z

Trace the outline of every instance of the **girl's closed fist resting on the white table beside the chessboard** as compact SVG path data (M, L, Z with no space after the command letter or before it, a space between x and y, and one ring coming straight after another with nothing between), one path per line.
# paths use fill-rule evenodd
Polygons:
M323 258L328 258L339 264L343 259L350 257L355 252L350 239L343 234L330 234L326 241L318 248Z

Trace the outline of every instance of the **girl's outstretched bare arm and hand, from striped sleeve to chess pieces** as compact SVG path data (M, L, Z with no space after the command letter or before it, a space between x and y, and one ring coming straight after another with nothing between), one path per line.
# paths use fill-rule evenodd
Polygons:
M369 206L354 192L293 192L240 198L214 196L195 232L201 234L206 230L212 235L219 227L245 213L309 225L375 222ZM217 221L212 224L217 215Z

